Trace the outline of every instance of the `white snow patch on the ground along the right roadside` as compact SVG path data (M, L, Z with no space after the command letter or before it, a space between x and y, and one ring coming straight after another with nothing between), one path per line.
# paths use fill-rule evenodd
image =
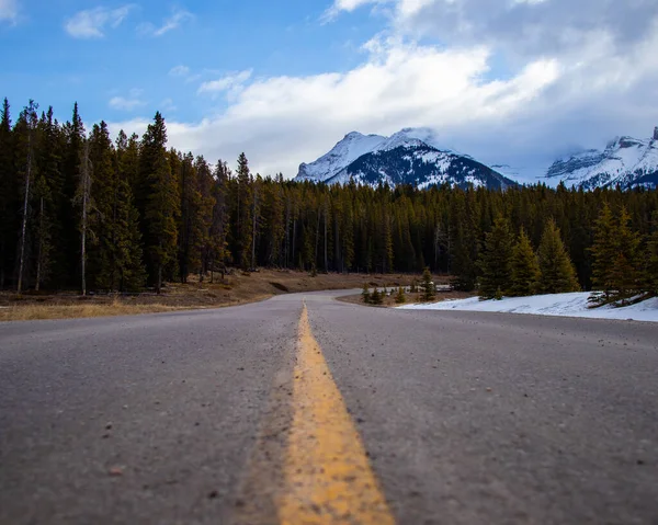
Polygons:
M587 292L574 294L535 295L531 297L507 297L501 300L468 299L445 300L442 303L426 303L406 305L399 308L408 310L468 310L498 311L508 313L534 313L540 316L589 317L597 319L624 319L634 321L658 322L658 297L638 303L637 305L614 308L588 308Z

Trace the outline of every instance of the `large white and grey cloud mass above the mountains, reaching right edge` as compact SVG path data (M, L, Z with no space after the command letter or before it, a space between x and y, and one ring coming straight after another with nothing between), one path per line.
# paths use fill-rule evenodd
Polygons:
M168 122L170 141L212 161L232 163L246 151L254 171L293 176L354 129L431 127L446 148L533 169L615 135L649 136L658 124L658 3L582 1L583 12L572 0L340 2L345 12L392 8L359 67L204 82L200 93L228 93L228 103L201 122ZM441 45L427 44L439 34ZM146 122L120 125L141 132Z

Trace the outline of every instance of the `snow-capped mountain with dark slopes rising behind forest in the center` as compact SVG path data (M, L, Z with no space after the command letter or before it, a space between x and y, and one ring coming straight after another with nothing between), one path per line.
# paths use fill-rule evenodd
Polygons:
M299 167L298 181L377 185L449 183L506 189L517 183L472 157L439 149L427 128L406 128L390 137L353 132L315 162Z

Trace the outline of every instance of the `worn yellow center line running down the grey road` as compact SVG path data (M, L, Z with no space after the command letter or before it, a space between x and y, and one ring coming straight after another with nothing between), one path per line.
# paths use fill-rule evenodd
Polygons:
M293 423L280 523L395 524L318 342L306 305L298 328Z

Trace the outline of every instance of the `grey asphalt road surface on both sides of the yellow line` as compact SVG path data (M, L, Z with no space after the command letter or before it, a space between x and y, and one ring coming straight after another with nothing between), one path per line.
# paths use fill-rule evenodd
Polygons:
M0 523L279 523L306 297L397 523L658 524L658 324L336 295L0 324Z

